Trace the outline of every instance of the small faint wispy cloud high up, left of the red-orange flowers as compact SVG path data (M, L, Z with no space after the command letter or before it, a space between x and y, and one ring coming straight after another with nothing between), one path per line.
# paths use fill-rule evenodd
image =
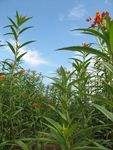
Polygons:
M71 11L68 14L68 17L72 18L72 19L80 19L80 18L84 17L86 12L87 11L83 4L77 4L75 7L73 7L71 9Z

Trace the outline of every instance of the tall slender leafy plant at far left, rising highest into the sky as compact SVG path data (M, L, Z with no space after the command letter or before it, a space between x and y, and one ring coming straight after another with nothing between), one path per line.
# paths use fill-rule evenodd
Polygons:
M20 36L28 29L32 28L32 26L25 27L23 26L24 23L26 23L28 20L31 19L31 17L26 17L20 15L18 12L16 12L15 20L12 18L8 18L10 24L6 26L5 28L8 28L9 32L5 35L10 35L12 38L12 42L6 41L6 46L10 49L10 51L13 54L13 59L7 59L5 61L2 61L2 72L3 75L0 75L0 82L1 83L1 92L4 92L4 88L6 86L6 95L5 93L1 94L0 100L0 132L1 134L1 141L6 140L14 140L16 138L15 135L15 116L21 112L23 109L22 107L17 110L17 102L15 99L15 92L18 84L18 80L20 77L22 77L25 74L25 70L20 67L20 62L22 57L27 53L22 53L21 49L34 42L34 41L27 41L24 43L20 42ZM3 99L7 103L5 104ZM18 106L19 107L19 106ZM6 109L7 108L7 109ZM8 117L9 116L9 117ZM4 119L8 119L7 121ZM7 124L7 123L8 124ZM7 125L7 132L5 131L5 125Z

